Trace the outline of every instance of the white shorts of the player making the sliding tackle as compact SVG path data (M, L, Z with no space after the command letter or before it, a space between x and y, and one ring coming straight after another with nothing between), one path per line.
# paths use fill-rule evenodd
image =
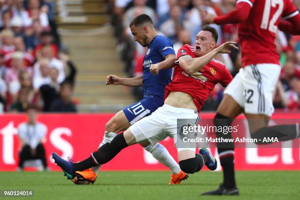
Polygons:
M176 141L178 139L177 132L181 125L177 125L177 119L185 119L186 125L198 125L200 116L197 110L187 108L177 108L171 105L164 104L155 110L150 116L141 119L134 125L129 127L134 135L136 142L148 140L153 146L159 141L170 136ZM189 146L176 146L177 151L181 150L196 150L196 144Z

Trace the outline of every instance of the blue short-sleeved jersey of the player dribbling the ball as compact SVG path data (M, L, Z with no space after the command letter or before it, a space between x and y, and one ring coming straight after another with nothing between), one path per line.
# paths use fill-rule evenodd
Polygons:
M164 98L165 87L171 82L172 69L160 70L158 75L150 73L151 64L165 60L169 54L174 54L172 41L162 35L155 36L148 46L143 60L143 88L144 96L153 95Z

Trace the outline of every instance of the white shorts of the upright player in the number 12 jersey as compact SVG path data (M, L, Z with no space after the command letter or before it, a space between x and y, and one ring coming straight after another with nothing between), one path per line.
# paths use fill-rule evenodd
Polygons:
M280 74L276 64L255 64L240 69L226 87L230 95L245 113L271 116L274 113L273 91Z

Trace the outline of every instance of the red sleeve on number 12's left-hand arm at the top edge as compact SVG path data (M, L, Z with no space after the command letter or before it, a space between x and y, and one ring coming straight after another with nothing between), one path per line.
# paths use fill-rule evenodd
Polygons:
M254 0L237 0L235 9L226 15L217 16L214 22L217 25L236 24L246 20L250 14Z

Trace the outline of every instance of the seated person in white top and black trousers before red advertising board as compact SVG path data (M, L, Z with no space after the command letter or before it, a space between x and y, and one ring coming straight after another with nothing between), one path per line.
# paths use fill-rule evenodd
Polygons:
M21 143L18 170L23 170L26 160L40 159L44 170L49 170L43 140L47 134L47 126L37 121L38 108L28 105L26 108L27 122L18 126L18 137Z

